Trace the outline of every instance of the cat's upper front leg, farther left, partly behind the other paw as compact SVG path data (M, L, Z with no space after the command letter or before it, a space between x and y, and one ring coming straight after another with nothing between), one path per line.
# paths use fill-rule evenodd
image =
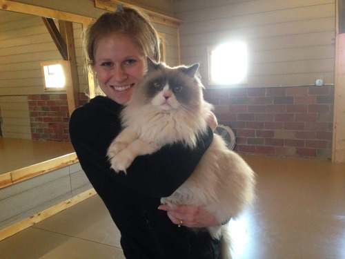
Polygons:
M130 143L137 139L137 131L134 128L124 128L110 144L107 152L109 160L112 160L115 155L123 151Z

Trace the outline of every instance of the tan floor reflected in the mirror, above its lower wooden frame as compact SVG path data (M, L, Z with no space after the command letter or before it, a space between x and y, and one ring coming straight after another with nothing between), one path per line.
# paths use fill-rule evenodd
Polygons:
M70 142L0 137L0 174L73 152Z

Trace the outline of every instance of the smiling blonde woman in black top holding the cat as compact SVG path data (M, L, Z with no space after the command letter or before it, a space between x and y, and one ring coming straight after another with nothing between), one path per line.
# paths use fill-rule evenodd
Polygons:
M110 169L106 151L121 131L119 112L146 70L146 57L159 61L159 39L146 16L134 8L107 13L86 30L89 68L106 95L97 96L70 118L70 138L83 171L121 232L126 258L219 258L219 242L187 227L219 224L206 211L160 205L193 173L213 133L197 148L164 146L137 157L124 173ZM166 211L168 211L168 216ZM181 227L183 225L183 227Z

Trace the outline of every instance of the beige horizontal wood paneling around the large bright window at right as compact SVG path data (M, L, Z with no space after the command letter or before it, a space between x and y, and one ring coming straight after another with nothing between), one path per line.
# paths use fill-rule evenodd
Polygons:
M181 61L201 62L224 41L248 44L248 87L334 84L335 1L181 1ZM246 87L246 86L239 86Z

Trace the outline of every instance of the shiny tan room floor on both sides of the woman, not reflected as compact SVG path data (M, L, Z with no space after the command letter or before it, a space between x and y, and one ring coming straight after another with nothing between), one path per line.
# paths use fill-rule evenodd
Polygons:
M257 199L230 221L233 259L345 258L345 164L244 158L257 173ZM0 242L6 259L124 259L119 247L98 195Z

